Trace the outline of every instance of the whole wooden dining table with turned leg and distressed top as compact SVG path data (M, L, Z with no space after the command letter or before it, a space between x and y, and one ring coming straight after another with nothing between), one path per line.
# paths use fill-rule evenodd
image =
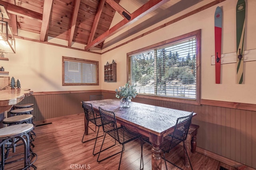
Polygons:
M86 102L92 104L95 112L99 111L99 107L113 111L117 123L149 137L149 140L152 143L152 170L162 169L160 145L163 142L163 138L174 131L174 126L176 125L178 117L183 117L191 113L189 111L137 102L132 102L132 106L129 108L122 108L120 107L120 100L118 99ZM196 113L194 113L194 115L196 115ZM88 121L84 119L84 122L86 127ZM86 129L86 135L88 135L88 127Z

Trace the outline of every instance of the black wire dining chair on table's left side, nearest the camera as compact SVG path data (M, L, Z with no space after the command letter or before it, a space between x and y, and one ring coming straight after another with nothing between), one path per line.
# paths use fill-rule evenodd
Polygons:
M110 135L110 137L112 137L113 139L115 139L115 141L117 141L119 144L122 145L122 150L120 152L114 153L108 157L102 158L99 160L100 158L100 153L102 153L102 146L104 144L104 139L102 141L102 145L100 147L100 153L98 154L98 158L97 161L98 162L102 162L103 160L106 160L116 154L121 153L121 157L120 157L120 161L119 161L119 166L118 166L118 170L120 169L120 164L121 164L121 159L122 159L122 154L124 151L124 144L133 141L135 139L140 138L140 144L141 144L141 149L142 149L142 143L141 143L141 135L138 133L134 133L132 131L130 131L129 129L127 129L124 126L120 126L117 127L116 124L116 116L114 114L114 112L112 111L108 111L105 109L102 109L101 107L99 107L99 111L100 111L100 117L102 120L102 127L103 127L103 131L105 133L104 139L106 137L106 134ZM141 155L141 159L142 159L142 155ZM143 162L143 159L140 160L140 162ZM143 164L143 163L142 163Z

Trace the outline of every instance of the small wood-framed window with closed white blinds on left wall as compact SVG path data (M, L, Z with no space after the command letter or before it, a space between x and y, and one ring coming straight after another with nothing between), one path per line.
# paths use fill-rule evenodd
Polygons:
M99 62L62 56L63 86L99 85Z

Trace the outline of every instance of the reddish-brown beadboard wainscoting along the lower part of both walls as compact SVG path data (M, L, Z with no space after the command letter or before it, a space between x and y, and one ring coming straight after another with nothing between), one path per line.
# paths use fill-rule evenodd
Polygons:
M80 102L88 101L93 94L103 94L104 99L114 98L113 91L54 92L33 94L21 103L34 103L34 121L44 123L46 119L83 113ZM256 111L255 105L222 104L221 101L203 101L200 106L168 101L140 98L132 101L169 107L197 113L192 123L199 125L197 146L220 155L233 162L256 168ZM212 106L214 103L215 106ZM232 107L232 108L230 108ZM233 108L236 107L236 108ZM252 108L252 109L250 109ZM232 162L230 161L230 162ZM238 168L238 167L237 167Z

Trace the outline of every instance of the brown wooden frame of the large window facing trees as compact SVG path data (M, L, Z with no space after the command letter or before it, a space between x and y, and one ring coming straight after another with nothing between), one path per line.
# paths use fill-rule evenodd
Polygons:
M126 56L127 75L126 76L127 76L127 82L128 82L129 72L130 72L130 62L129 62L130 55L142 53L144 51L148 51L150 49L153 49L159 46L167 45L169 43L174 43L182 39L187 39L189 37L196 37L196 99L194 100L194 99L185 99L185 98L184 99L173 98L171 96L165 97L165 96L156 96L153 94L139 94L138 96L136 96L136 98L138 97L138 98L146 98L146 99L152 99L152 100L162 100L167 102L178 102L178 103L193 104L198 106L200 105L201 103L200 102L201 100L201 29L127 53L127 56Z

